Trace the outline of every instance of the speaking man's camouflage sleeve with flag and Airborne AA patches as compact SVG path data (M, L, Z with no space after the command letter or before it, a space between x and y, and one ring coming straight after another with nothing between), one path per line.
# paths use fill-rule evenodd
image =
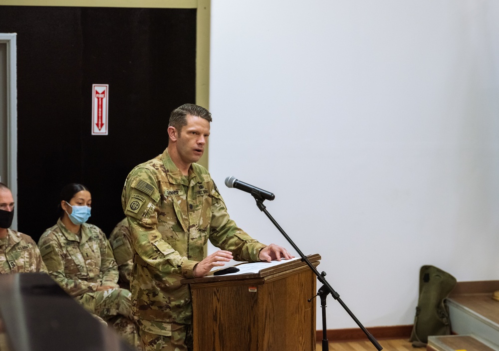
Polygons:
M158 231L161 195L154 176L147 169L136 169L127 178L121 196L123 210L136 253L157 270L194 278L198 261L189 260L162 239Z

